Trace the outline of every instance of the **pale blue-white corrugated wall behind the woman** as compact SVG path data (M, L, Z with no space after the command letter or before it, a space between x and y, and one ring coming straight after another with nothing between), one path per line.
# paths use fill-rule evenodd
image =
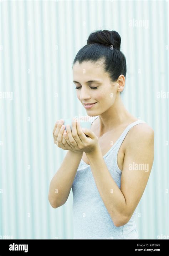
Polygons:
M57 119L86 115L72 62L98 29L116 30L126 55L124 105L155 132L152 173L138 206L140 239L169 235L168 1L0 1L0 235L72 238L72 191L53 209L48 188L66 151L53 143ZM130 26L148 21L146 26Z

